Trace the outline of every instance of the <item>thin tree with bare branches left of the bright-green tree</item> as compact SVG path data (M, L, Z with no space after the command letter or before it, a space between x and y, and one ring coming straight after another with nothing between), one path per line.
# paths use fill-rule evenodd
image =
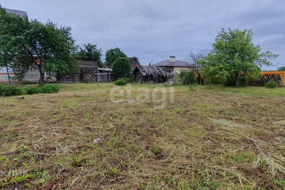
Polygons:
M186 57L186 62L189 62L193 66L194 71L197 73L198 84L201 83L204 85L205 79L202 76L203 62L201 60L205 59L209 52L210 51L208 49L200 49L196 52L190 50Z

